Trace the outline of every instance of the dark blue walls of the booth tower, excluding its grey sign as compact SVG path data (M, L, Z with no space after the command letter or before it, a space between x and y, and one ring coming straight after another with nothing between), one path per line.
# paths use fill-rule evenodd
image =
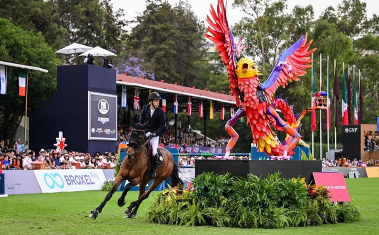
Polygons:
M58 66L57 92L30 115L30 149L54 148L62 131L67 150L115 151L115 141L88 140L88 91L116 94L116 71L91 65Z

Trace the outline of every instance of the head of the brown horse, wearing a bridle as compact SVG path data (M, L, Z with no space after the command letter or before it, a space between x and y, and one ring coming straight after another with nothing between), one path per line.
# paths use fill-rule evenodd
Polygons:
M127 151L127 155L129 159L133 159L137 149L141 147L141 145L145 142L145 128L148 125L146 122L144 125L136 124L131 120L132 131L129 136L129 149Z

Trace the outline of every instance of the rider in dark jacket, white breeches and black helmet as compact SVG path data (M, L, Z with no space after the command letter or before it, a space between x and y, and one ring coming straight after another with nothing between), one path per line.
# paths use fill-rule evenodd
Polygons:
M166 132L166 115L162 108L159 107L161 96L157 92L149 95L149 103L141 110L141 116L138 123L144 124L149 121L145 128L146 137L150 140L150 145L153 151L153 173L150 177L155 178L157 172L157 159L158 159L158 143L159 136L163 136Z

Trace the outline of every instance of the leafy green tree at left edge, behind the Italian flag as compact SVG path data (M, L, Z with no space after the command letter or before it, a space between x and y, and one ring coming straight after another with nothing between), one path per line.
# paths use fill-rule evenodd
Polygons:
M0 57L41 67L49 73L29 71L28 109L32 112L56 89L58 60L41 33L34 35L0 19ZM0 139L13 138L25 112L25 97L18 96L18 69L7 69L7 95L0 97Z

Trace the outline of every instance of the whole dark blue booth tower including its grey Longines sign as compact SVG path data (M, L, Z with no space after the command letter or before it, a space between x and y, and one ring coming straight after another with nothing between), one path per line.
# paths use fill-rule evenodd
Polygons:
M30 115L30 148L53 147L62 131L69 150L115 151L116 71L76 65L57 72L57 92Z

